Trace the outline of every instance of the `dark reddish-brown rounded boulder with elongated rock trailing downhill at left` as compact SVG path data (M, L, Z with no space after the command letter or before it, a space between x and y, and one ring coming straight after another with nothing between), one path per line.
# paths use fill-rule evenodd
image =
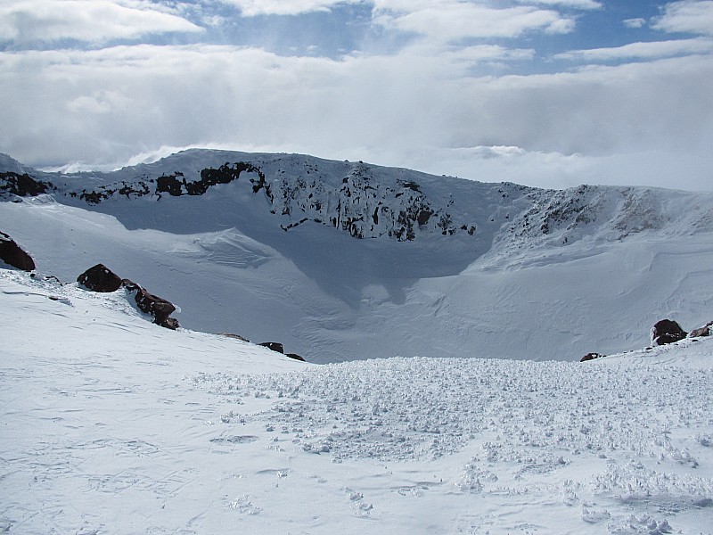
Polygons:
M91 292L116 292L123 287L133 297L136 307L153 317L153 323L173 330L180 326L178 320L171 317L176 311L173 303L153 295L133 281L122 279L103 264L87 269L77 277L77 282Z

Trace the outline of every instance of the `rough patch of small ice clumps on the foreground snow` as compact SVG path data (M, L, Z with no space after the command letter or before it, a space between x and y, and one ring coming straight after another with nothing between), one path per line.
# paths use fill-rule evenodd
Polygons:
M271 399L250 421L336 459L434 459L496 433L484 459L545 472L564 457L612 452L695 467L668 434L713 414L704 393L710 378L680 366L633 373L625 364L390 358L295 374L199 375L193 383L219 396Z

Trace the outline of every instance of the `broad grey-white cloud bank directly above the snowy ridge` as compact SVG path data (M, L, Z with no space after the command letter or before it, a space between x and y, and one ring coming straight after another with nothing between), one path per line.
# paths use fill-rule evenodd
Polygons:
M2 123L12 132L0 152L33 165L91 164L220 145L529 184L552 185L548 172L652 184L676 167L709 179L709 58L464 78L471 62L511 51L417 52L340 62L215 45L0 53ZM660 170L636 175L633 162L654 152L666 154Z

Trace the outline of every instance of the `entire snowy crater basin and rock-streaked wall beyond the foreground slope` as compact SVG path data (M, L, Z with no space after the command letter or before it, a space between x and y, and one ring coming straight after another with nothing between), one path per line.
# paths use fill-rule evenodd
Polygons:
M713 303L711 193L199 150L105 174L0 166L0 230L41 272L102 262L186 327L314 362L574 360L641 347L663 317L698 326Z

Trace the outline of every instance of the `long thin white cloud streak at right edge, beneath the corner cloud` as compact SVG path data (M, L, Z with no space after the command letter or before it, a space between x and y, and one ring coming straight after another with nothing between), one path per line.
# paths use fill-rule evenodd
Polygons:
M578 62L610 62L622 59L655 59L679 54L713 53L713 39L698 37L651 43L631 43L612 48L592 48L558 53L554 59Z

